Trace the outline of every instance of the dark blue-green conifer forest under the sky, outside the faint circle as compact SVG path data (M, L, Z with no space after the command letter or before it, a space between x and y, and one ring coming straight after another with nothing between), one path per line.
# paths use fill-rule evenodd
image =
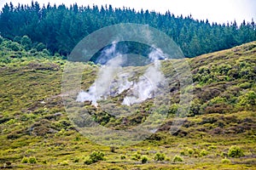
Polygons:
M227 24L210 24L208 20L194 20L192 16L175 16L131 8L112 8L109 6L79 7L77 4L67 8L59 6L39 6L19 4L14 7L6 3L0 14L0 34L19 41L27 35L32 42L43 42L51 53L69 54L74 46L85 36L104 26L118 23L148 24L164 31L177 42L187 57L206 54L231 48L245 42L256 40L254 21L236 21Z

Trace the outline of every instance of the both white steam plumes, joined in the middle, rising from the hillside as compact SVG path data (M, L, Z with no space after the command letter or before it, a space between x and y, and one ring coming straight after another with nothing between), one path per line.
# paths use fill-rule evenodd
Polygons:
M147 99L154 98L160 83L165 81L160 71L160 60L165 59L165 55L159 48L154 48L148 59L153 62L137 81L129 81L134 75L132 71L122 72L121 65L125 62L125 56L115 52L116 43L113 42L111 48L102 52L103 60L108 59L99 71L96 81L90 86L87 92L81 91L77 101L91 101L97 106L97 101L107 99L109 96L116 96L125 92L122 105L139 104ZM113 56L114 55L114 56Z

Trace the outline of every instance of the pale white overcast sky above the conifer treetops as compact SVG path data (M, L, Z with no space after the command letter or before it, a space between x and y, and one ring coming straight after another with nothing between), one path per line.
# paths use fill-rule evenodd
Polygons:
M31 0L0 0L0 8L5 3L12 2L15 6L18 3L31 4ZM34 1L35 2L35 1ZM43 4L61 4L61 0L38 0L42 7ZM256 20L256 1L255 0L70 0L67 1L67 7L70 4L78 3L79 5L92 6L93 4L101 7L105 4L111 4L113 8L135 8L137 11L148 9L165 14L170 10L172 14L187 16L192 14L194 19L206 20L211 23L226 23L236 20L238 24L242 20L251 22L252 18Z

